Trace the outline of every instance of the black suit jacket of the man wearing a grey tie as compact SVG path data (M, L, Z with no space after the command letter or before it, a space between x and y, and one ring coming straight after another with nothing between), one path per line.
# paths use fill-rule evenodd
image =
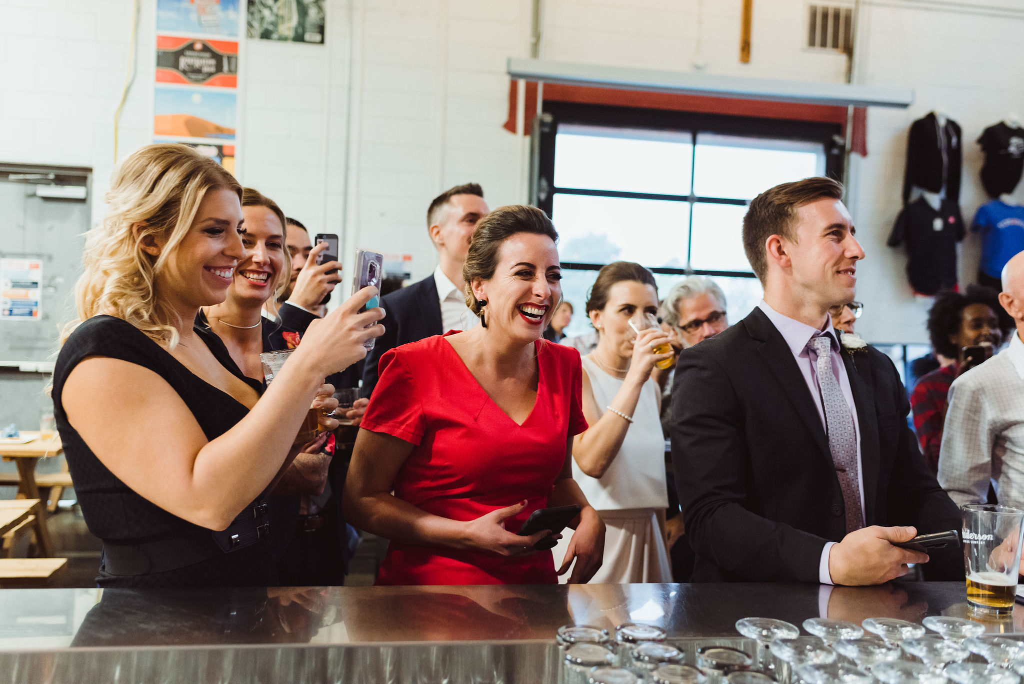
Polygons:
M906 424L887 356L843 352L860 427L868 525L919 534L961 528ZM693 581L818 581L826 541L845 535L843 493L814 400L760 309L684 351L672 391L672 461ZM959 549L934 552L932 579L964 577Z

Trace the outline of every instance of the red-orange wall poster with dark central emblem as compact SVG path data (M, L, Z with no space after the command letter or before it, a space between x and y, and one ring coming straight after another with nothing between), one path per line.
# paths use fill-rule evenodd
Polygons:
M157 36L157 83L234 88L239 44L181 36Z

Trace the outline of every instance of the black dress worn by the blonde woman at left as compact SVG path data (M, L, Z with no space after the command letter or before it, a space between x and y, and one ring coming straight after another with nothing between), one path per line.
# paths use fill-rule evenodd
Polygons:
M242 373L219 337L202 328L196 328L196 332L225 368L262 393L262 384ZM227 432L249 409L194 374L141 330L120 318L95 316L75 329L60 350L53 371L53 412L89 531L112 549L159 552L184 547L188 549L184 558L191 558L197 550L201 557L183 567L157 572L143 569L131 574L113 574L104 563L96 584L100 587L275 586L278 576L267 536L261 534L248 546L223 551L212 530L178 518L135 493L100 462L71 427L60 393L75 366L90 356L120 359L156 372L185 402L208 440ZM138 457L160 458L160 445L153 444L151 451L139 453ZM258 502L259 499L253 506Z

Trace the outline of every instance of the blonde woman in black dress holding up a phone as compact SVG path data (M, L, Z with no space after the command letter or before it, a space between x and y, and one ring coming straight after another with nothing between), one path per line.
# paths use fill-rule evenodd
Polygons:
M53 404L76 493L103 540L103 587L273 586L261 495L294 457L324 377L365 356L359 292L313 321L263 393L216 335L194 327L246 257L234 177L182 145L151 145L114 172L89 231ZM326 419L325 427L335 427Z

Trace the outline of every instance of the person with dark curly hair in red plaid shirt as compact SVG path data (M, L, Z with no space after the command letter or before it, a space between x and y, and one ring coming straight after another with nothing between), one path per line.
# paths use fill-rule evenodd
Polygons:
M922 376L910 395L913 429L932 473L939 471L949 387L966 370L964 348L998 348L1011 329L1013 319L999 306L995 290L988 287L969 285L966 293L946 291L935 297L928 312L928 334L940 367Z

